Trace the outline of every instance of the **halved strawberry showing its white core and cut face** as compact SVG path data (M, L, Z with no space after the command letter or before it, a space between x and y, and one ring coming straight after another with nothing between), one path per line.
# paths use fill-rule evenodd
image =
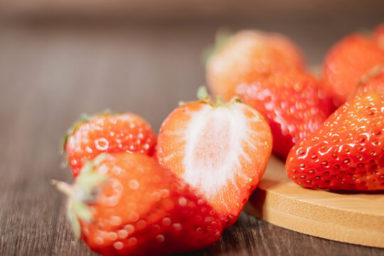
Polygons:
M161 125L157 159L197 188L232 225L257 186L272 149L270 127L234 98L189 102Z

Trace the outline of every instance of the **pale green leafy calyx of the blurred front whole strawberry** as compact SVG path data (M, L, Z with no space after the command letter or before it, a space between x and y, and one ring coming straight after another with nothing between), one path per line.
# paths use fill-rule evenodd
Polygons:
M79 219L88 223L93 220L93 215L87 203L92 203L96 200L99 192L98 188L107 181L107 176L99 174L95 168L95 165L100 164L106 156L106 154L100 154L95 160L88 161L82 167L73 185L63 181L51 181L58 191L68 196L67 214L72 223L75 238L80 238Z

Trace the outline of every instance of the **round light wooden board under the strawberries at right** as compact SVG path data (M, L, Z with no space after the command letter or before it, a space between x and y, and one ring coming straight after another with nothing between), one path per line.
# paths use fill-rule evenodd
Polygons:
M273 156L245 211L319 238L384 247L384 193L333 193L289 180Z

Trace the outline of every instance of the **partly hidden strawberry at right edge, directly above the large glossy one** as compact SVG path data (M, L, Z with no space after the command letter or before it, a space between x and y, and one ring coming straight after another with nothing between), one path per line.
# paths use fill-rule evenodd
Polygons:
M368 74L363 75L356 94L372 91L384 91L384 63L375 66Z

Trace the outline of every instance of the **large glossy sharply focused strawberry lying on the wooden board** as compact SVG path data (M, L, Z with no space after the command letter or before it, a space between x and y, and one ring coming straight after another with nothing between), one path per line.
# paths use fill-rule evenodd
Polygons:
M287 157L287 174L306 188L384 190L384 93L342 105Z

